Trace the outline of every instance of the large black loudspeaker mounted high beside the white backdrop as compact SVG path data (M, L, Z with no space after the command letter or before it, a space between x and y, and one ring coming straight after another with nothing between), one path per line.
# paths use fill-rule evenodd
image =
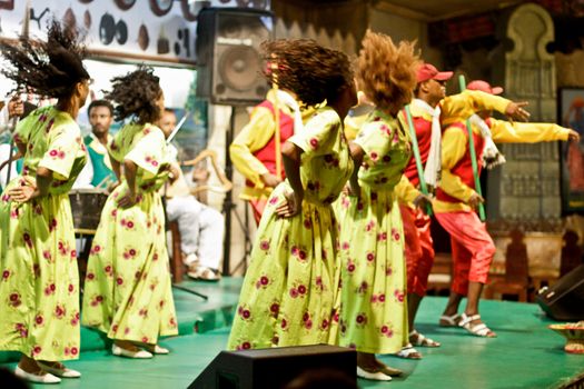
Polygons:
M197 96L225 106L263 101L269 87L259 47L273 30L268 11L202 9L197 17Z

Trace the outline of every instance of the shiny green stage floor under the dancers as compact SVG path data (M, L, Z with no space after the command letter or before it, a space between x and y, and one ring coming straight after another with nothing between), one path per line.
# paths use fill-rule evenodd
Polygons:
M172 351L151 360L112 357L102 339L83 329L79 361L69 362L83 373L81 379L63 380L61 388L150 389L186 388L222 350L241 279L226 278L219 283L184 282L207 293L208 301L175 291L180 336L161 341ZM437 323L445 298L423 301L418 330L442 341L436 349L420 349L424 359L403 360L383 356L386 363L405 370L392 382L359 380L360 388L558 388L584 375L584 356L563 351L564 339L547 329L552 321L536 305L483 301L482 315L498 333L496 339L467 336L462 329ZM196 332L195 329L198 331ZM3 366L14 367L14 355L0 352ZM0 383L0 387L1 383ZM34 388L44 386L34 386Z

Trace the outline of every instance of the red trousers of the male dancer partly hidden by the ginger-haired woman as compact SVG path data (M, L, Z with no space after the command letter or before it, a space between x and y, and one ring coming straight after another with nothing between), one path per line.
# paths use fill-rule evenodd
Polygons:
M407 292L426 295L428 276L434 263L434 245L429 230L430 218L419 209L399 206L406 245Z

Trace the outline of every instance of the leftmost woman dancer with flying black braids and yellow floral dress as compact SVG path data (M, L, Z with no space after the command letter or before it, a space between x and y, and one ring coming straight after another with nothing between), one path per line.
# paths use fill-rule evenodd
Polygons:
M40 383L76 378L60 360L79 358L79 279L69 189L86 163L75 119L89 92L82 48L57 21L48 42L0 44L17 88L57 98L16 130L23 169L0 202L0 350L22 353L17 376Z

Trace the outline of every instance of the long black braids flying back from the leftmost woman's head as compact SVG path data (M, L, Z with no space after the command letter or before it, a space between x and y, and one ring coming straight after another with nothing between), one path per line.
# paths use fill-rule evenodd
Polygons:
M61 26L52 19L47 42L20 37L17 42L1 41L0 50L8 60L1 73L17 87L10 93L32 90L39 96L68 98L79 81L88 80L83 68L86 49L79 30Z

